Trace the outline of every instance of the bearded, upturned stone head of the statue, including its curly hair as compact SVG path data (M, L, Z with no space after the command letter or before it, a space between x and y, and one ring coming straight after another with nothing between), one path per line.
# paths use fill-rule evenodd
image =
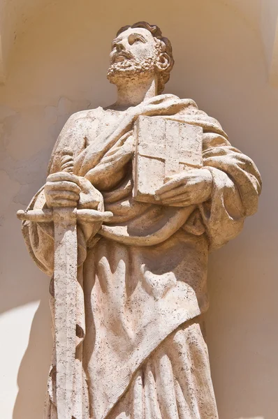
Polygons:
M119 85L135 78L157 77L158 93L174 65L172 47L156 25L138 22L122 27L112 41L108 80Z

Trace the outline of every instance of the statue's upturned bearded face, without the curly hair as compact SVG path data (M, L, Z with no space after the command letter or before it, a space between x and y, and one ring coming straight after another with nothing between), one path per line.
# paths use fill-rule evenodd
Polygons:
M152 34L143 28L129 28L112 42L108 80L117 84L124 77L155 73L159 50Z

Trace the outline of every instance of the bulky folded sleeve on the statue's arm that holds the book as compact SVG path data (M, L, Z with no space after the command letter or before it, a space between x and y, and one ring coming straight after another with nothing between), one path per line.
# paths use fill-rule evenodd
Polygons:
M212 174L213 189L199 209L210 249L217 249L240 233L245 217L256 212L261 176L249 157L213 133L204 134L203 164Z

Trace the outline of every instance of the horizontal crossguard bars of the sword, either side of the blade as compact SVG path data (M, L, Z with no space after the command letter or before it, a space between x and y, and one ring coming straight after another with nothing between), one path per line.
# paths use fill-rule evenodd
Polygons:
M110 211L96 211L96 210L73 210L77 220L87 221L93 223L96 221L110 221L113 213ZM35 221L36 223L47 223L53 221L52 210L19 210L17 211L17 218L22 221Z

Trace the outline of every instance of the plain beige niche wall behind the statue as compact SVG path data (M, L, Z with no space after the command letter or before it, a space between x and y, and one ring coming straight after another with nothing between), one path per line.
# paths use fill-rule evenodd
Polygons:
M115 99L105 71L117 29L148 20L173 44L166 92L219 119L263 176L258 214L211 255L207 337L220 419L277 419L278 91L261 38L224 1L97 3L52 2L17 39L0 87L1 418L42 417L52 346L48 279L27 254L15 212L43 184L67 117Z

